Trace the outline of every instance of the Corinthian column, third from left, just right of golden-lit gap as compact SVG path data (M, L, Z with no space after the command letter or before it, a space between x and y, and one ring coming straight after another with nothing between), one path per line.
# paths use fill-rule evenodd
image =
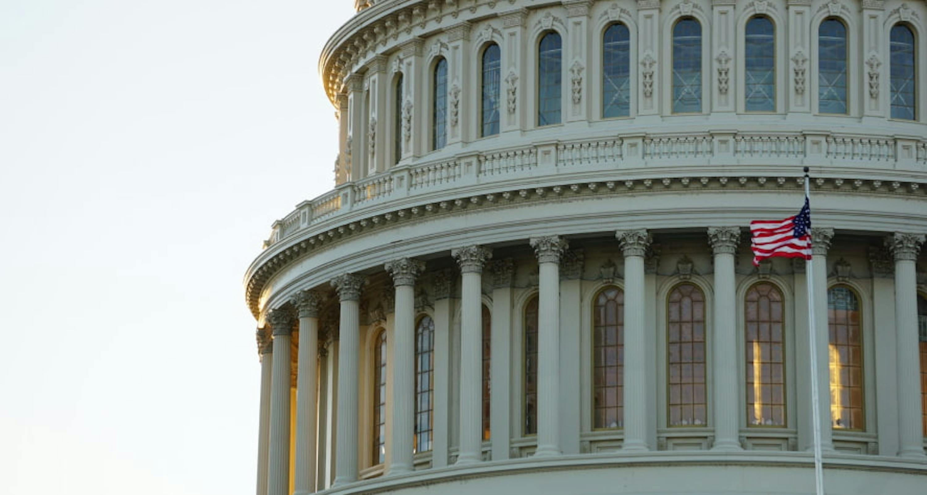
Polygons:
M319 355L319 302L315 292L298 293L293 305L299 315L299 355L296 377L296 466L294 495L315 491L316 368Z

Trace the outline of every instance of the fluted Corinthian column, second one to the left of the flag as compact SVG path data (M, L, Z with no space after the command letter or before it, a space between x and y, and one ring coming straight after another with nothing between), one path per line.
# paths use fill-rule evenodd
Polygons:
M625 451L647 448L647 360L644 336L643 257L651 236L644 229L618 231L625 255Z

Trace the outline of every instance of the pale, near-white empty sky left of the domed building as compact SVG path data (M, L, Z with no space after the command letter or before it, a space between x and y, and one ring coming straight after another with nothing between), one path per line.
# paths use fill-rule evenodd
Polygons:
M253 493L242 276L332 188L349 0L0 0L0 493Z

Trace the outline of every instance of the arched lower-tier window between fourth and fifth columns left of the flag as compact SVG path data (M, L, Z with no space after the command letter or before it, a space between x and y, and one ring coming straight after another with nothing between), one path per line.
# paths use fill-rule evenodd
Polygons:
M435 322L423 316L415 325L415 440L413 451L431 450Z

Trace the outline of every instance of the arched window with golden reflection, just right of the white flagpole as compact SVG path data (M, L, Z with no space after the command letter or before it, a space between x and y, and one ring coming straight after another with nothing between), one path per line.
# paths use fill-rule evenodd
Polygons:
M863 336L859 298L847 286L827 291L828 352L831 363L831 421L834 428L861 430Z

